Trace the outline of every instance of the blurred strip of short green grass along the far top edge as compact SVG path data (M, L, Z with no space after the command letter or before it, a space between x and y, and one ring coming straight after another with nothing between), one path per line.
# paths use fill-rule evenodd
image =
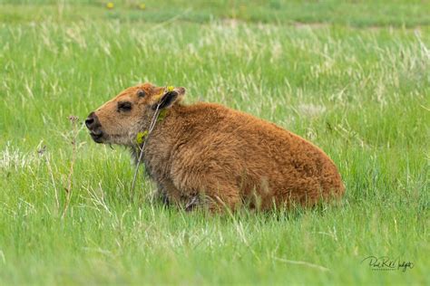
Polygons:
M394 25L414 27L429 25L430 2L395 1L298 1L298 0L218 0L218 1L112 1L114 9L102 9L110 1L0 0L5 8L0 15L5 22L31 22L46 17L59 22L84 19L117 19L126 22L144 20L164 22L171 19L207 23L214 19L235 19L247 23L272 24L348 24L354 26ZM54 5L58 3L57 5ZM73 3L73 5L72 5ZM137 7L144 3L144 12ZM20 4L20 5L16 5ZM51 4L51 5L46 5ZM84 11L84 12L83 12Z

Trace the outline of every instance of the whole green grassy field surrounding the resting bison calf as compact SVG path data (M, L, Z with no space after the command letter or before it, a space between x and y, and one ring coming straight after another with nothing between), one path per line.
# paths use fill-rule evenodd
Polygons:
M0 284L430 284L429 2L160 2L0 0ZM131 203L82 121L142 81L313 141L342 204L188 214L143 176Z

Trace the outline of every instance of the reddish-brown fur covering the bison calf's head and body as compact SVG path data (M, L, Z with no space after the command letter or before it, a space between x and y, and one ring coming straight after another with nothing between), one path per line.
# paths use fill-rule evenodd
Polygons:
M144 97L137 95L145 91ZM97 142L128 146L138 153L135 138L149 128L164 89L149 83L122 91L93 116ZM213 103L182 105L185 90L166 107L147 138L143 161L169 202L191 209L219 210L315 205L345 192L337 167L318 147L275 124ZM118 111L119 101L132 110ZM95 131L94 131L95 130Z

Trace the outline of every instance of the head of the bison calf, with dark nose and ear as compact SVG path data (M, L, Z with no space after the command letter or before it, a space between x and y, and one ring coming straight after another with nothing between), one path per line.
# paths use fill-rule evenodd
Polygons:
M132 146L139 132L149 129L157 109L169 109L185 94L184 88L140 84L122 91L90 113L85 120L97 143Z

